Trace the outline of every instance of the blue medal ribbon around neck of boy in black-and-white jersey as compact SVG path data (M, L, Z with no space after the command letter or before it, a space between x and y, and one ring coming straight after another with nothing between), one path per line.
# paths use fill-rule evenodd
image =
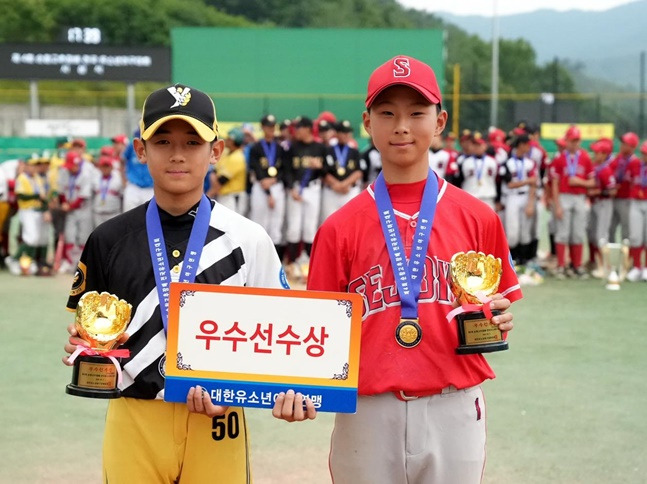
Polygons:
M186 247L186 254L182 262L182 272L180 282L193 282L198 273L198 263L204 247L204 241L207 238L209 230L209 220L211 219L211 203L209 199L202 195L198 211L195 214L195 221L191 227L189 243ZM159 209L155 197L148 204L146 210L146 231L148 232L148 248L153 263L153 273L155 274L155 285L157 286L157 296L160 303L160 313L164 323L164 333L168 328L168 306L171 282L170 267L166 255L166 243L162 232L162 222L160 221Z

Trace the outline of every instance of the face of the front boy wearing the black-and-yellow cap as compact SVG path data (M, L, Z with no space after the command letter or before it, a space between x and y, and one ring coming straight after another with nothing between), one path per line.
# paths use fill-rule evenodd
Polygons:
M146 144L141 139L134 143L137 157L148 165L157 198L202 193L209 164L218 161L224 147L222 140L212 146L181 119L162 124Z

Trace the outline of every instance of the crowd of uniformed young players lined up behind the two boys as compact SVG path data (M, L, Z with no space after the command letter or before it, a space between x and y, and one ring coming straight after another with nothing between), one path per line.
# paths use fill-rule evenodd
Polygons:
M207 175L205 192L262 225L288 276L304 279L317 228L374 181L380 155L371 143L360 153L352 124L330 112L281 123L266 115L260 126L258 136L250 125L226 133L227 152ZM15 179L3 179L0 170L0 250L12 273L72 272L96 225L152 196L132 143L124 135L112 142L92 157L83 140L62 140L51 155L21 162ZM552 273L560 279L601 277L600 246L618 234L629 240L628 279L647 281L642 262L647 250L647 142L639 147L638 136L625 133L615 156L611 139L592 143L591 155L580 144L576 126L556 141L553 156L540 144L538 129L527 123L507 133L464 130L458 137L445 133L434 139L429 164L497 211L511 257L522 272L528 266L540 274L539 262L551 261ZM544 210L550 212L551 251L549 258L538 258ZM8 219L16 211L19 243L9 255ZM48 247L56 249L56 257L49 259L56 262L54 268Z

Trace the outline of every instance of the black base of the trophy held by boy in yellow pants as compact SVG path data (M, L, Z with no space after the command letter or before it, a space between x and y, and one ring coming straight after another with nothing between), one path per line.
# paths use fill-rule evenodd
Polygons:
M117 368L104 356L79 356L74 361L72 382L65 393L85 398L119 398Z

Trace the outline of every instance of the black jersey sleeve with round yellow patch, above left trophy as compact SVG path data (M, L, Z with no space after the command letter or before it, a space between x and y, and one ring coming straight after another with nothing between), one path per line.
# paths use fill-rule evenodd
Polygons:
M67 309L75 311L81 296L89 291L101 292L106 286L106 274L103 261L108 259L107 252L102 251L100 240L93 232L90 234L81 258L76 266L72 287L67 299Z

